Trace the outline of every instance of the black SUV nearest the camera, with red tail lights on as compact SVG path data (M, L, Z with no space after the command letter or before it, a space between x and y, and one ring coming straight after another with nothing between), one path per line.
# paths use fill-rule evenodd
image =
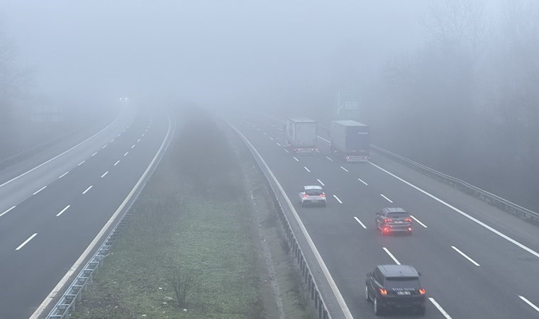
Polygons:
M365 298L374 303L375 315L387 308L416 309L425 315L425 289L411 266L384 264L374 268L365 280Z

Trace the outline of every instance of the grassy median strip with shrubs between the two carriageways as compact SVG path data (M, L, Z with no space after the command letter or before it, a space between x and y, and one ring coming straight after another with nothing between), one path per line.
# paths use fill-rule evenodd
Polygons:
M167 155L71 318L275 318L245 169L206 113L178 118ZM308 318L289 256L277 264L286 270L285 310Z

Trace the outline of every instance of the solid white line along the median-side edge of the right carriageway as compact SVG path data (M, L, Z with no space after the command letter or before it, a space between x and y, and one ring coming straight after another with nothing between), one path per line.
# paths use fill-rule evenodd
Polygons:
M296 212L296 209L294 208L294 206L292 205L290 198L288 198L287 194L284 192L284 189L282 188L279 181L277 181L277 178L273 174L272 170L270 169L270 167L267 166L266 161L262 158L262 156L260 156L260 153L255 149L255 147L251 144L251 142L249 142L249 140L245 138L245 136L237 128L235 128L234 125L230 123L228 123L228 125L230 125L230 127L233 128L241 136L241 138L243 138L243 140L251 147L251 149L255 152L257 157L259 157L260 160L262 161L262 164L267 169L267 172L270 173L270 177L272 177L272 179L275 181L275 184L277 184L279 191L284 196L285 201L287 201L287 205L289 206L292 212L292 215L294 215L294 219L296 220L296 223L298 223L299 228L301 229L301 233L304 234L306 241L309 243L309 247L311 248L311 251L313 252L314 257L316 258L316 261L320 265L320 268L322 269L324 276L326 276L326 280L328 281L331 291L333 291L333 295L335 295L335 298L337 299L339 303L340 309L343 310L345 318L353 319L352 313L350 313L350 309L348 309L348 306L346 306L345 299L343 298L343 295L340 294L337 284L335 284L335 281L333 280L333 277L331 276L328 270L328 267L326 267L326 263L323 261L322 256L318 252L318 249L316 248L313 240L311 239L311 235L309 235L309 233L307 232L307 229L305 228L304 223L301 221L301 218L299 218L299 215Z

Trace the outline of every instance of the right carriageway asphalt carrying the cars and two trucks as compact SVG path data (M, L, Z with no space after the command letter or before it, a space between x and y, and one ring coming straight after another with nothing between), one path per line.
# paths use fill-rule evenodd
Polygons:
M333 318L348 311L374 318L365 274L399 263L421 273L426 318L539 318L536 226L376 153L368 163L346 163L328 152L322 131L320 154L291 154L283 147L282 120L258 113L229 118L283 186L328 267L345 301L331 306ZM299 206L298 192L309 184L324 187L326 208ZM374 224L382 207L409 211L413 235L382 236Z

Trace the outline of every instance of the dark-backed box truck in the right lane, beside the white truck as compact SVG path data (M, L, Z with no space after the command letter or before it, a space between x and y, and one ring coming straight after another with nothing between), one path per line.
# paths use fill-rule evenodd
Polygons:
M332 121L329 136L332 152L339 153L346 162L369 161L369 125L356 121Z

